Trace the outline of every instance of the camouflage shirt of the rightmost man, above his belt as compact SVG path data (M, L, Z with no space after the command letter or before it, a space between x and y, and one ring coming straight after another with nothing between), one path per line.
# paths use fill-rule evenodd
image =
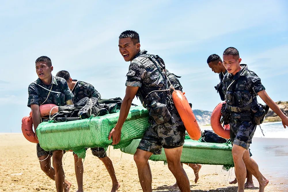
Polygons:
M265 90L261 79L246 64L235 75L226 73L223 78L223 93L226 103L233 107L245 108L251 102L257 102L257 93Z

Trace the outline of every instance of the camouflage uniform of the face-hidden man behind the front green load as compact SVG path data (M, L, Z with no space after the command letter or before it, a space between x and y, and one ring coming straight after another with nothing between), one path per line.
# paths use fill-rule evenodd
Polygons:
M77 80L73 79L73 81ZM72 93L74 95L72 99L74 104L79 102L84 97L88 98L96 97L98 99L101 99L100 93L93 87L93 85L86 83L84 81L77 81L74 88L72 89ZM92 154L98 158L103 158L107 156L105 149L102 147L91 148L91 151ZM73 152L73 155L74 154L75 153Z

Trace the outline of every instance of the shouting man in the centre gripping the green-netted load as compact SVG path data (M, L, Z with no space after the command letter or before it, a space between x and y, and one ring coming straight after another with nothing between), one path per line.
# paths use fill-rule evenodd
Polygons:
M118 47L124 60L130 61L130 66L126 75L126 94L121 104L118 122L108 138L110 140L112 136L113 145L119 143L123 123L133 98L137 96L153 119L134 154L143 191L152 191L152 175L148 159L152 154L161 154L163 147L168 168L175 176L179 189L190 192L189 180L180 163L185 127L172 102L171 92L167 90L169 85L163 71L164 65L159 57L140 50L139 34L135 31L122 32ZM161 108L162 113L156 112L154 110L156 107Z

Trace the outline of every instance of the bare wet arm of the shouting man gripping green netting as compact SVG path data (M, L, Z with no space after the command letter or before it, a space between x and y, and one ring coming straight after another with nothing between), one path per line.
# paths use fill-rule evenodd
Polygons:
M111 139L111 136L112 136L113 145L116 145L120 142L122 126L128 116L128 113L132 104L132 100L134 99L138 89L139 87L129 87L129 86L126 87L126 93L125 93L123 102L121 104L118 121L108 136L109 140Z

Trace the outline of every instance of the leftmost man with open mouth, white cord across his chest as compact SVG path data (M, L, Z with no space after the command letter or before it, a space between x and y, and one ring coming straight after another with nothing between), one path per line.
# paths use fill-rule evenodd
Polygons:
M35 66L38 79L28 87L29 97L27 106L32 109L33 126L36 130L41 123L40 105L55 104L63 106L65 104L73 104L73 94L69 90L65 79L54 77L51 74L53 66L49 57L41 56L37 58ZM55 180L57 192L63 192L63 190L69 191L71 183L65 180L62 168L62 157L65 151L45 151L39 143L37 143L36 149L41 170L48 177ZM51 167L51 156L53 157L53 168Z

